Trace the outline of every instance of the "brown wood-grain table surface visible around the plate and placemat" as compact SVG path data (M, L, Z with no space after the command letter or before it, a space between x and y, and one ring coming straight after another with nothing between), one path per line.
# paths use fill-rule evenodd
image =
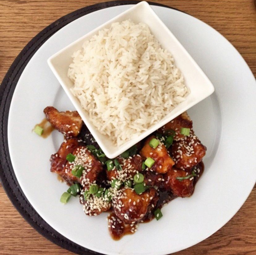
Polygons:
M0 81L23 47L43 28L76 9L101 1L0 1ZM102 1L103 2L103 1ZM206 22L241 53L256 75L256 9L253 0L157 1ZM253 130L252 130L253 132ZM255 155L252 155L255 157ZM250 176L248 176L250 178ZM239 188L239 187L238 187ZM224 227L201 243L178 252L256 254L256 188ZM74 254L46 240L15 210L0 185L0 254Z

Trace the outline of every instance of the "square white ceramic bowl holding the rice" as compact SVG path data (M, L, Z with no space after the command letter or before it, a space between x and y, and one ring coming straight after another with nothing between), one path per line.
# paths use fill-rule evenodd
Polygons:
M73 82L68 78L67 72L70 63L72 63L71 55L76 50L82 48L84 41L89 40L99 30L109 28L111 23L122 22L126 19L131 19L134 23L146 23L149 26L151 33L160 42L162 48L167 49L170 53L172 53L175 65L181 70L181 73L185 79L185 84L190 90L190 94L186 97L184 102L177 105L168 115L159 121L159 123L152 125L137 138L131 139L122 146L117 147L106 135L101 134L96 129L96 127L91 123L86 110L82 108L80 101L71 93L70 88L73 87ZM110 19L108 22L102 24L98 28L87 33L85 36L66 46L64 49L51 56L47 62L67 96L74 104L85 125L92 133L96 142L104 151L105 155L110 159L117 157L122 152L141 141L147 135L151 134L161 126L165 125L167 122L177 117L179 114L202 101L207 96L210 96L214 91L212 83L201 68L197 65L186 49L184 49L172 32L160 20L156 13L151 9L149 4L144 1L139 2L135 6L117 15L115 18Z

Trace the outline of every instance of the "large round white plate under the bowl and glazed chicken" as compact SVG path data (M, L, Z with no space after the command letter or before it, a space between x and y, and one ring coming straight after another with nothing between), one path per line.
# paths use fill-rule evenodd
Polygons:
M190 247L222 227L239 210L256 179L256 84L237 50L218 32L194 17L152 6L187 49L215 87L215 93L189 110L194 130L207 146L205 172L191 198L165 206L164 217L140 224L134 235L113 241L106 216L84 215L78 199L66 205L59 198L66 185L49 171L49 156L62 135L47 139L33 134L43 109L73 109L47 65L47 58L131 5L85 15L56 32L35 53L15 89L8 141L12 165L29 202L63 236L105 254L168 254ZM142 245L143 244L143 245Z

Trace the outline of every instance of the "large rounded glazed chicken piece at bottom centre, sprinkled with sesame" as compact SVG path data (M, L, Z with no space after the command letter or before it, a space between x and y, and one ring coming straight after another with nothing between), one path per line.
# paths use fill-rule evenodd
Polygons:
M112 206L117 217L129 224L142 220L149 210L154 209L157 200L157 192L154 188L150 188L140 195L133 189L124 188L113 196Z

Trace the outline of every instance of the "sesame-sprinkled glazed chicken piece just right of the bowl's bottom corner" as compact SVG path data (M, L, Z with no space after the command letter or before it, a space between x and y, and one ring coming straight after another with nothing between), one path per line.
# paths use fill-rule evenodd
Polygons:
M122 170L117 170L115 167L107 171L107 176L109 181L113 179L118 179L120 181L132 180L136 172L142 171L142 158L139 155L134 155L131 159L124 159L119 157L119 164L122 167ZM113 160L114 161L114 160Z

